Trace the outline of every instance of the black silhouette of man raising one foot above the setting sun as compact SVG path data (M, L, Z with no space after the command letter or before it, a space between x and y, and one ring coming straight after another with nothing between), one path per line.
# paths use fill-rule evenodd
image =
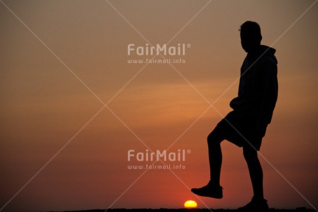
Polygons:
M263 170L257 151L261 148L277 101L276 50L261 45L261 28L256 22L246 21L240 31L241 45L247 56L241 67L238 96L230 103L233 111L207 136L210 181L207 186L192 188L191 191L203 197L223 197L223 188L220 186L221 142L226 139L243 148L252 181L254 197L239 210L261 211L267 210L268 204L263 197Z

